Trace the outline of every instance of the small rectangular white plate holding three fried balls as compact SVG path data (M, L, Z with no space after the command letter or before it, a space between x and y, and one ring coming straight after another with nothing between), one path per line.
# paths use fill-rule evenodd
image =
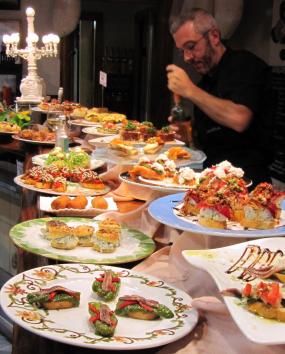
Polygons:
M52 209L51 203L56 198L57 197L40 196L40 210L45 211L47 213L60 215L60 216L96 216L105 213L106 211L118 210L117 204L115 203L112 197L105 198L108 204L107 209L93 208L91 204L93 197L86 197L88 204L84 209L72 209L72 208Z

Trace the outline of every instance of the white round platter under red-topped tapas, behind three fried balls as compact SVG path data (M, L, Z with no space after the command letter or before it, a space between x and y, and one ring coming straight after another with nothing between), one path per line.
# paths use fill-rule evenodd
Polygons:
M34 192L39 192L39 193L44 193L44 194L52 194L52 195L69 195L69 196L76 196L80 194L84 195L104 195L108 192L110 192L111 188L109 186L105 185L104 189L87 189L83 188L80 186L79 183L72 183L72 182L67 182L67 191L66 192L56 192L51 189L39 189L34 187L33 185L30 184L25 184L22 182L21 177L23 175L17 176L14 178L14 182L22 187L29 189Z

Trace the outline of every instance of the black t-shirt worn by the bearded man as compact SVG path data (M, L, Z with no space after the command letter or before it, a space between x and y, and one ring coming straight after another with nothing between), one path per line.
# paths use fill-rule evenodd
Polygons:
M206 166L228 160L245 170L248 177L256 173L268 180L267 150L270 138L270 71L258 57L248 51L227 49L211 75L205 75L198 86L206 92L248 107L253 119L248 128L238 133L224 127L194 108L193 138L205 151Z

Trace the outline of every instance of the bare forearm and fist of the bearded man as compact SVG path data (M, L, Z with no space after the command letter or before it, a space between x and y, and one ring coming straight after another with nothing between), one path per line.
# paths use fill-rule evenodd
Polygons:
M167 68L168 88L191 100L208 117L237 132L244 131L252 119L252 111L244 105L213 96L196 86L187 73L171 64Z

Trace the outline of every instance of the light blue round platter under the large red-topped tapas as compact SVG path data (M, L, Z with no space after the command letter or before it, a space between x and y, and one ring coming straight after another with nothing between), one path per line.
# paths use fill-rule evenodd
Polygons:
M178 230L189 231L192 233L219 236L219 237L247 237L247 238L261 238L261 237L276 237L285 235L285 226L276 227L268 230L221 230L212 229L186 221L183 217L175 215L173 208L181 203L185 193L171 194L154 200L148 211L150 215L161 222L162 224L174 227ZM284 215L283 204L283 215Z

